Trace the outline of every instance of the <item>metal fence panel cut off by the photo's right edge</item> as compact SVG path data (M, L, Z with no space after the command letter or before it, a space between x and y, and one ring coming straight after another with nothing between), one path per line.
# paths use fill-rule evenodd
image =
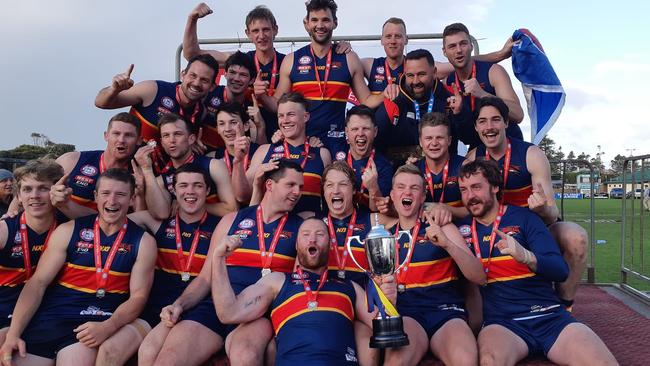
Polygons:
M624 195L621 205L620 285L645 301L650 301L650 271L645 263L645 256L649 254L650 249L644 245L645 233L648 230L648 213L643 204L646 187L650 185L650 179L646 177L646 165L649 162L650 155L625 159L622 176ZM631 186L629 191L628 184ZM637 190L640 190L640 194Z

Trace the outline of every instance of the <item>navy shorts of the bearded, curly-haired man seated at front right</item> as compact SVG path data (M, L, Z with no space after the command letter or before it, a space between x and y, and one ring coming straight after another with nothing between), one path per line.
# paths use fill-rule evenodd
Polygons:
M562 309L554 313L537 316L514 319L486 319L484 326L497 324L506 327L526 342L529 355L546 356L564 328L571 323L577 322L571 316L571 313Z

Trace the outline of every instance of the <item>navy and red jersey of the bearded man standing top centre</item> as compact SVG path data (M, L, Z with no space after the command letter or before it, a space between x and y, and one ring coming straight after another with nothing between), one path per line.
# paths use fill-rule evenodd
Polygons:
M345 54L332 50L331 57L331 68L325 82L327 56L315 57L310 45L300 48L293 53L289 78L292 91L302 94L309 101L307 136L316 136L330 151L338 151L337 147L345 144L345 108L352 74Z

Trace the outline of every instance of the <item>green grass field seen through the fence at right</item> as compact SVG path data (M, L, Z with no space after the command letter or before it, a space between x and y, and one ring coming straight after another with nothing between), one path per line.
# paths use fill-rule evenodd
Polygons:
M595 244L595 280L597 283L618 283L621 278L623 201L596 199L594 202L596 234L593 238L595 240L592 241L600 243ZM561 202L558 201L557 204L560 207ZM626 206L625 264L634 271L650 276L650 212L641 213L642 203L639 199L628 199ZM564 220L580 224L588 233L589 214L590 200L564 200ZM650 290L650 283L644 283L632 276L628 277L628 284L644 291Z

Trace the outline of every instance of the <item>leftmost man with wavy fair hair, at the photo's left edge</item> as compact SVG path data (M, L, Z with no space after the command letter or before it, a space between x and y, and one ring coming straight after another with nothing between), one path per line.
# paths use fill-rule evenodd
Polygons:
M60 223L50 202L50 188L63 177L63 168L54 160L30 160L16 169L15 176L16 197L25 210L0 221L0 343L20 290Z

